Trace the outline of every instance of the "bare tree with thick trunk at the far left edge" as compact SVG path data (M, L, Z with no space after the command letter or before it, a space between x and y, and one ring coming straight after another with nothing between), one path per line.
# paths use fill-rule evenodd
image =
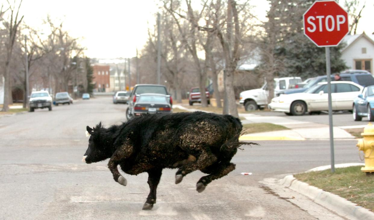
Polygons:
M24 16L22 16L20 19L18 19L18 12L19 8L21 7L22 0L20 1L18 8L15 11L15 5L11 5L9 1L7 1L9 4L10 10L10 21L3 22L6 30L7 30L7 40L5 41L5 47L6 47L6 54L5 54L5 68L3 69L3 75L5 78L4 81L4 104L3 104L3 110L2 111L8 111L9 110L9 104L13 102L12 99L12 85L9 75L9 66L10 66L10 59L12 58L13 53L13 45L16 39L16 35L18 32L19 24L21 23Z

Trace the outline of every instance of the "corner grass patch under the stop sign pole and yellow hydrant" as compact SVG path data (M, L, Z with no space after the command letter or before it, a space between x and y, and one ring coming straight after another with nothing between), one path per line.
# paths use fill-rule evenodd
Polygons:
M368 210L374 210L374 175L361 172L361 166L300 173L294 177L309 185L334 193Z

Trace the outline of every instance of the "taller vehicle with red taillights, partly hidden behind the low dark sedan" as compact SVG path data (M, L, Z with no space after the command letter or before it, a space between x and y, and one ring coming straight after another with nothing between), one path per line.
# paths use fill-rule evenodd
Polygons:
M134 116L134 104L137 101L137 95L141 95L144 93L153 93L153 94L163 94L168 98L170 105L173 105L173 99L169 95L166 86L158 85L158 84L137 84L134 86L134 89L131 91L131 95L129 98L129 106L126 109L126 118L130 120Z

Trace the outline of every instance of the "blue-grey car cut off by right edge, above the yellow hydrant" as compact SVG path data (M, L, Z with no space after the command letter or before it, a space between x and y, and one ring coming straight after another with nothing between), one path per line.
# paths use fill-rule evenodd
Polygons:
M362 93L353 100L353 120L361 121L367 117L374 121L374 85L365 87Z

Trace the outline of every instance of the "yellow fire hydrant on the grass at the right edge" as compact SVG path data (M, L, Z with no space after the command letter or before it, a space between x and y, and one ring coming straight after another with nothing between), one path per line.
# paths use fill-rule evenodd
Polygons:
M374 174L374 126L369 122L361 135L363 138L356 145L359 151L364 151L365 167L361 171L367 175Z

